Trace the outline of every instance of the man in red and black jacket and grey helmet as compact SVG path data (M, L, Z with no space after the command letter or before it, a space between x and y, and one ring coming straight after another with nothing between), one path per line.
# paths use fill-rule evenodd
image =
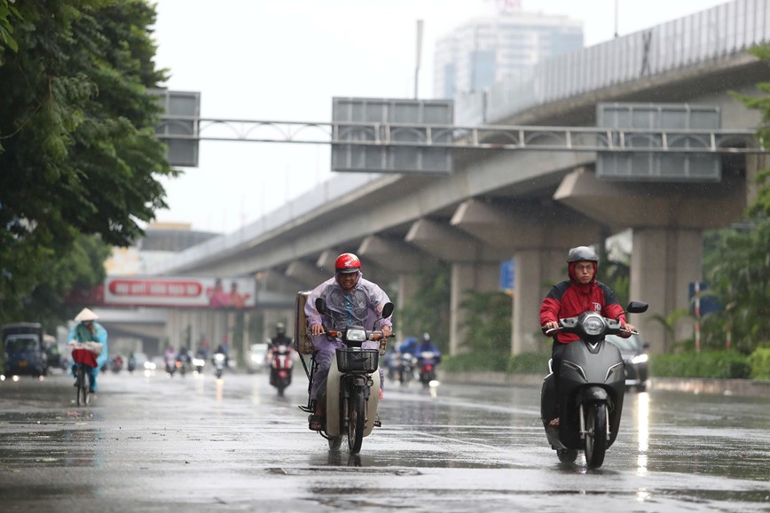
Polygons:
M585 245L570 249L567 254L569 280L555 284L540 305L540 326L544 331L559 328L559 319L576 317L583 312L598 312L604 317L620 321L628 330L621 337L628 338L633 325L625 322L623 307L617 302L617 296L607 285L596 280L599 269L599 257ZM551 369L554 371L554 385L559 390L559 369L562 362L562 349L566 344L578 340L572 333L557 331L551 348ZM559 418L551 421L558 425Z

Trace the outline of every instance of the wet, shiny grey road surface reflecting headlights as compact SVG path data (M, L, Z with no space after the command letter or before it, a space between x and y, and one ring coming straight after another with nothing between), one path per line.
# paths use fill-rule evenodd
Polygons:
M361 455L307 429L302 369L0 382L0 510L770 511L770 398L626 395L604 465L558 462L538 389L389 385Z

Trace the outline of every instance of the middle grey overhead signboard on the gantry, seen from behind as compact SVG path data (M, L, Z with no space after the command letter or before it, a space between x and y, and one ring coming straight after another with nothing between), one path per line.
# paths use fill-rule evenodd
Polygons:
M452 100L332 100L332 169L361 173L452 173ZM436 144L436 146L432 146Z

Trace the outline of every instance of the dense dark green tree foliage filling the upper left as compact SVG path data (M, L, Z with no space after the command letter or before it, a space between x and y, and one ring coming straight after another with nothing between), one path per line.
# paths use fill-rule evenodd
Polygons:
M0 0L0 301L3 315L24 307L29 319L61 307L72 279L51 275L83 261L71 256L104 256L139 237L166 206L158 179L177 172L147 94L166 79L153 63L154 8L47 0L4 9L12 4ZM91 264L103 274L103 260Z

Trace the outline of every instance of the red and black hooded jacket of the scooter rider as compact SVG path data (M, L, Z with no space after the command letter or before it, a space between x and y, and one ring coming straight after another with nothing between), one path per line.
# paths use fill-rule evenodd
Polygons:
M623 307L617 302L617 296L607 285L596 281L598 266L593 263L593 280L589 284L579 284L575 278L574 267L577 262L570 263L570 279L555 284L546 299L540 305L540 326L549 321L558 322L566 317L577 317L583 312L598 312L604 317L617 319L625 323ZM557 339L562 344L578 340L573 333L558 334Z

